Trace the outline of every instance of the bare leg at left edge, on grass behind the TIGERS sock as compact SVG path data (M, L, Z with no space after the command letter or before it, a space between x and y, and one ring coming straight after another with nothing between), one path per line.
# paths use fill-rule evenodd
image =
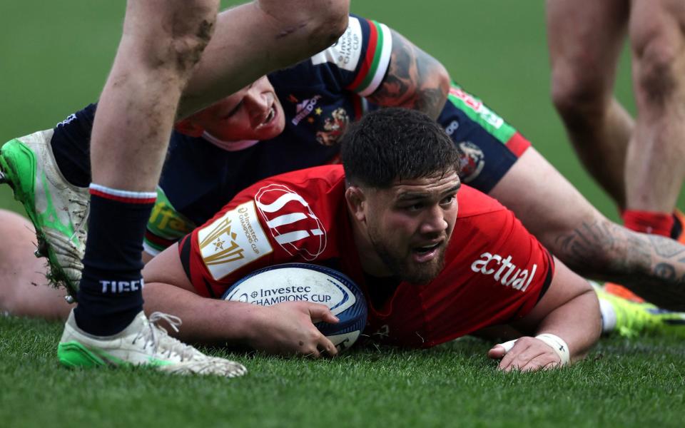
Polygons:
M36 233L29 220L0 210L0 313L64 320L66 291L48 285L44 259L35 258Z

